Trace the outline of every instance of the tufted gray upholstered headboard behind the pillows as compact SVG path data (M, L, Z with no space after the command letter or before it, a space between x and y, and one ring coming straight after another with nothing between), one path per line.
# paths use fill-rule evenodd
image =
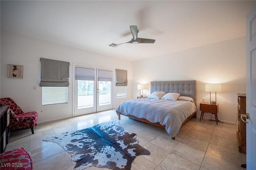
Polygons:
M151 81L150 94L155 91L180 93L181 96L191 97L196 102L196 81Z

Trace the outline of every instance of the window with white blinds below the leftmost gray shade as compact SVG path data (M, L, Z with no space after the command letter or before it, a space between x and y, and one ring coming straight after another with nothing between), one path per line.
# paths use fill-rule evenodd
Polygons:
M42 105L68 103L68 87L42 87Z

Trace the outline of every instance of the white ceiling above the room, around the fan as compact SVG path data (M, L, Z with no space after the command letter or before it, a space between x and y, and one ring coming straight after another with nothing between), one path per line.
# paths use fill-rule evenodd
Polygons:
M136 61L246 35L256 1L2 1L1 29ZM154 44L122 44L138 37Z

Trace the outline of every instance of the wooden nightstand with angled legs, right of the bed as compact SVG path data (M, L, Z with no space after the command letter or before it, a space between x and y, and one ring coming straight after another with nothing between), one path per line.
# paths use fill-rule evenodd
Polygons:
M215 115L216 123L218 125L218 110L219 110L219 104L218 103L217 104L200 103L200 111L202 111L200 121L201 121L201 118L203 120L205 112L212 113L212 114Z

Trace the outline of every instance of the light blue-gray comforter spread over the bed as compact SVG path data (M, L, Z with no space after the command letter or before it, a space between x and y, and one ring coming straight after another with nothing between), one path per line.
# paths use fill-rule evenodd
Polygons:
M171 137L175 137L184 122L196 111L196 105L191 101L162 100L162 99L132 99L122 102L116 113L120 115L133 115L140 119L147 119L152 123L165 125Z

